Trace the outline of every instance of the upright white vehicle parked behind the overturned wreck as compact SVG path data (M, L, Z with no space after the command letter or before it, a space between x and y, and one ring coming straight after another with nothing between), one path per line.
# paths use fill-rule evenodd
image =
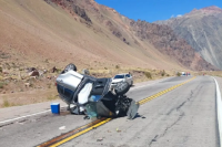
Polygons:
M127 82L129 85L133 85L133 77L129 73L122 73L122 74L117 74L112 78L112 84L111 85L117 85L119 82Z

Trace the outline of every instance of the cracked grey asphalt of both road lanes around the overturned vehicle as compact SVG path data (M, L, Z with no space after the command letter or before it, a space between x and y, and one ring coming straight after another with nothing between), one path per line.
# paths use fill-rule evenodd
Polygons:
M191 77L173 77L160 83L132 87L128 96L140 101L189 78ZM199 76L141 105L135 119L112 119L62 146L216 147L219 134L215 107L213 78ZM90 123L82 117L64 112L61 115L44 114L1 126L0 147L39 145ZM64 129L59 129L60 127Z

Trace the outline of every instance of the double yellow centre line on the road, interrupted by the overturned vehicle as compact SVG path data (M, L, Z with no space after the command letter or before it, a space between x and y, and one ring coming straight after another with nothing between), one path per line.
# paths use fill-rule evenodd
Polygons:
M159 97L159 96L161 96L161 95L163 95L163 94L165 94L165 93L168 93L168 92L170 92L170 91L172 91L172 90L174 90L174 88L176 88L176 87L179 87L181 85L184 85L185 83L188 83L188 82L190 82L190 81L192 81L194 78L195 78L195 76L190 78L190 80L188 80L188 81L185 81L185 82L183 82L183 83L181 83L181 84L178 84L178 85L172 86L172 87L170 87L168 90L161 91L161 92L159 92L159 93L157 93L157 94L154 94L152 96L149 96L149 97L138 102L137 104L142 105L142 104L144 104L144 103L147 103L147 102L149 102L149 101L151 101L151 99L153 99L155 97ZM103 124L105 124L105 123L108 123L110 120L112 120L112 118L102 117L102 118L97 119L97 120L94 120L94 122L92 122L92 123L90 123L90 124L88 124L85 126L82 126L82 127L77 128L74 130L71 130L69 133L62 134L61 136L58 136L58 137L56 137L56 138L53 138L51 140L48 140L46 143L37 146L37 147L49 147L49 146L50 147L58 147L58 146L60 146L60 145L62 145L62 144L64 144L64 143L73 139L73 138L77 138L78 136L80 136L80 135L82 135L84 133L88 133L91 129L97 128L97 127L99 127L99 126L101 126L101 125L103 125Z

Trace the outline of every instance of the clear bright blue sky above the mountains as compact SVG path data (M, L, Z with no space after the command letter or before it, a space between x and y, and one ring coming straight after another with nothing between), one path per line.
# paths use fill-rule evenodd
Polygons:
M210 6L222 8L222 0L95 0L100 4L115 9L119 13L133 19L153 22L184 14L194 8Z

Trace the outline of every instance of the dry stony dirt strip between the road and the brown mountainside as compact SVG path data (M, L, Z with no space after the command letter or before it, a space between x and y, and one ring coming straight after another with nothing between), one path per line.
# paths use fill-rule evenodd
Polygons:
M89 71L90 75L94 77L113 77L115 74L130 72L133 76L134 84L173 75L172 73L168 73L165 71L148 71L144 69L112 69ZM81 70L79 70L79 72L81 73ZM3 83L2 87L0 88L0 108L58 99L59 96L57 87L54 86L57 75L58 73L49 73L36 78L3 78L0 81ZM26 84L29 84L29 86Z

